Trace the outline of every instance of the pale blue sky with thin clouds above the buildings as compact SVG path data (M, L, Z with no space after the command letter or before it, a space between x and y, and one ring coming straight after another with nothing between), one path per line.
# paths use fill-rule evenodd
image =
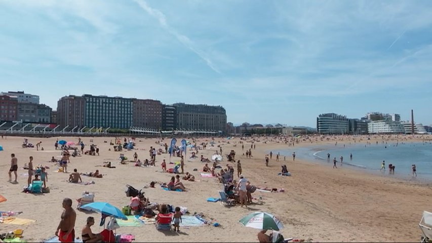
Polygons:
M4 1L1 91L222 105L228 121L320 113L432 124L431 1Z

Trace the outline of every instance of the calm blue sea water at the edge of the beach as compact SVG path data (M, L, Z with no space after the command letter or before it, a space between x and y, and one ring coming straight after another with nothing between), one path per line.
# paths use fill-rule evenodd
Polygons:
M366 143L345 145L317 145L303 148L288 147L283 150L273 150L273 157L279 152L280 161L286 156L287 161L292 161L292 153L296 158L328 164L333 167L333 158L336 157L340 167L340 156L343 156L343 167L359 170L367 170L377 174L388 176L388 164L395 165L395 174L391 176L411 178L411 165L417 167L417 178L432 180L432 143ZM270 151L268 151L270 152ZM327 161L327 153L330 153L330 161ZM352 159L349 155L352 153ZM274 158L273 158L274 159ZM381 169L382 160L385 160L385 172Z

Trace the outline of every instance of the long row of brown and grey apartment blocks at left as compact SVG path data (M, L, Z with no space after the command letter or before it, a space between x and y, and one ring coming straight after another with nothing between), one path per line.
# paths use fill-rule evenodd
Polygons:
M23 91L0 93L0 120L58 124L70 128L131 127L152 130L226 131L222 106L175 103L159 100L69 95L59 99L57 110L39 104L39 96Z

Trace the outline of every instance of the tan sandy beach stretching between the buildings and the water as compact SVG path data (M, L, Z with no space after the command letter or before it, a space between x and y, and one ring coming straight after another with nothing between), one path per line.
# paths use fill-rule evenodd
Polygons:
M181 137L176 137L180 141ZM129 204L130 198L126 196L126 184L139 189L149 185L154 180L168 183L172 174L162 173L162 159L169 161L169 154L156 156L156 166L148 168L135 167L134 163L121 165L120 153L124 153L129 159L133 159L133 153L138 153L138 158L144 160L149 158L150 146L156 149L163 148L157 143L161 139L137 138L136 147L132 151L114 152L109 142L114 138L89 138L83 137L86 149L93 143L100 148L100 156L82 155L71 157L68 172L74 168L78 172L94 172L96 169L104 174L103 178L90 178L83 176L83 181L94 181L92 185L80 185L68 183L68 174L57 172L55 163L50 163L52 156L59 159L61 150L54 149L56 139L77 142L78 138L29 138L29 142L36 144L42 141L44 151L36 151L36 148L22 148L23 137L7 137L0 140L4 151L0 151L0 194L8 200L0 204L0 211L22 211L19 218L32 219L36 222L28 225L0 224L0 233L14 229L24 229L24 239L27 241L41 241L54 236L56 227L62 213L62 199L72 198L73 207L76 208L75 199L80 198L83 191L95 192L95 201L106 201L117 208ZM185 138L187 140L191 140ZM337 138L340 139L340 138ZM349 139L349 138L344 138ZM379 140L375 137L371 142ZM401 139L401 138L400 138ZM404 137L406 141L431 139L431 137ZM243 140L246 148L250 148L251 138ZM231 149L235 150L235 159L242 161L243 174L256 186L271 188L284 188L285 192L260 192L256 191L255 198L262 197L261 204L250 205L250 209L240 206L226 208L218 203L209 203L208 197L218 197L218 191L222 184L216 178L200 177L204 163L199 159L185 159L185 172L190 172L198 181L185 182L186 192L165 191L156 185L155 188L144 189L150 201L159 204L170 204L186 207L188 211L203 213L207 220L213 219L221 226L213 227L204 225L201 227L183 227L179 233L164 233L155 229L154 225L143 225L139 227L121 227L117 233L130 233L135 235L136 242L154 241L233 241L233 242L258 242L258 230L244 227L239 220L247 214L255 211L272 213L280 218L285 228L281 230L283 235L304 239L313 242L352 242L369 241L385 242L399 241L412 242L420 239L421 231L418 222L422 212L432 211L430 205L430 184L420 183L416 180L407 181L391 177L373 175L371 173L352 170L348 168L332 169L330 165L317 164L309 161L292 161L292 157L283 157L279 162L276 155L270 160L269 167L265 167L265 152L273 148L286 148L295 151L296 147L308 146L312 141L299 141L295 147L289 147L281 141L270 141L259 138L255 142L256 149L252 149L252 158L242 155L242 144L240 138L223 140L215 138L214 147L207 146L206 150L199 150L199 156L211 157L218 145L222 146L223 154ZM107 143L104 143L106 141ZM123 138L122 138L123 141ZM163 143L169 144L170 138L165 138ZM197 144L210 142L211 138L199 138ZM263 143L266 141L266 143ZM345 140L346 141L346 140ZM229 144L227 143L229 142ZM333 140L313 140L313 144L334 143ZM177 145L179 142L177 142ZM111 151L108 149L111 148ZM165 150L165 149L164 149ZM10 168L10 155L15 153L18 158L18 184L7 182ZM27 184L27 170L22 169L28 163L28 157L33 156L33 165L39 164L49 166L48 183L50 193L40 195L23 193L23 186ZM190 151L187 151L187 157ZM180 158L172 157L171 161L179 161ZM104 161L112 161L115 169L95 167L103 165ZM221 166L226 168L222 161ZM291 172L291 177L278 176L281 165L286 164ZM235 179L237 179L237 167L234 166ZM211 164L209 165L211 166ZM168 165L172 168L173 165ZM193 171L198 169L198 171ZM259 200L255 200L259 201ZM76 235L81 237L81 229L86 223L86 218L91 215L95 217L96 225L93 232L102 230L97 226L100 215L97 213L86 214L76 211L75 224Z

